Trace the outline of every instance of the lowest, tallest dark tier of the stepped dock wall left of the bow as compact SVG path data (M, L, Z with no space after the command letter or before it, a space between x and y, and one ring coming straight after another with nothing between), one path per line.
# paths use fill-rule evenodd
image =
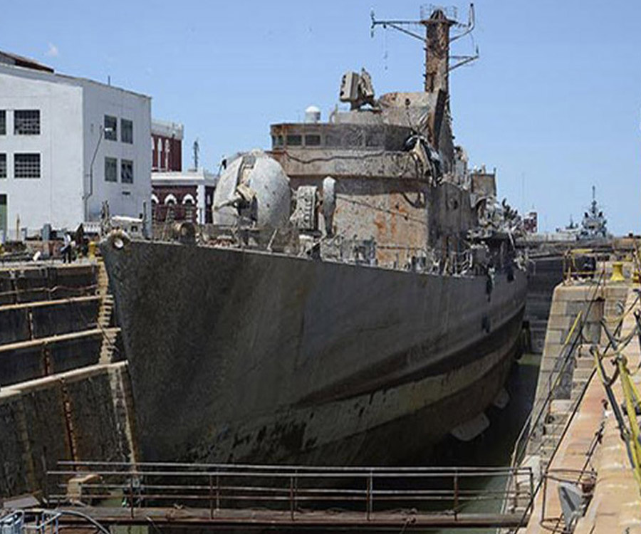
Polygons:
M41 491L61 459L134 461L125 362L0 390L0 497Z

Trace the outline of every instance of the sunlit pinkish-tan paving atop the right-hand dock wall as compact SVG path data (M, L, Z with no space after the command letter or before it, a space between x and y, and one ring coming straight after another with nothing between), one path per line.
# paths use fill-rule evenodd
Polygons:
M630 271L628 265L627 272ZM632 283L627 276L625 283L606 284L602 290L605 320L615 328L622 319L620 337L627 339L634 334L635 317L633 312L641 311L635 295L637 283ZM559 310L563 305L558 306ZM624 313L622 313L622 311ZM552 325L551 325L552 326ZM602 333L598 340L603 352L607 345L607 337ZM641 386L641 375L635 370L641 365L641 348L636 335L632 335L630 343L621 348L621 355L627 361L627 367L632 372L631 381L635 387ZM612 377L614 367L611 362L613 352L603 359L606 374ZM584 360L578 357L578 362ZM548 471L543 471L546 483L538 491L533 503L531 518L526 528L518 530L519 534L549 533L553 525L558 525L557 532L566 526L561 509L559 483L578 488L583 496L585 513L575 515L573 524L563 530L575 534L595 533L641 533L641 493L635 480L635 471L626 451L610 399L606 394L603 383L594 371L592 357L588 357L575 372L584 373L582 395L575 397L576 412L568 419L568 414L560 423L563 432L558 436L558 449L553 454ZM574 378L576 380L576 377ZM581 379L579 377L579 379ZM624 403L622 383L620 378L610 384L613 402ZM555 414L558 417L558 414ZM630 420L623 413L625 424ZM579 477L578 473L583 473ZM581 484L576 483L580 480ZM563 495L568 495L567 489Z

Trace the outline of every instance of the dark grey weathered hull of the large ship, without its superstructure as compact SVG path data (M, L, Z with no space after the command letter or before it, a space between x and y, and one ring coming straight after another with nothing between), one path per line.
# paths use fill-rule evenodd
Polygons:
M102 246L142 459L392 462L481 412L526 276L434 276L234 248Z

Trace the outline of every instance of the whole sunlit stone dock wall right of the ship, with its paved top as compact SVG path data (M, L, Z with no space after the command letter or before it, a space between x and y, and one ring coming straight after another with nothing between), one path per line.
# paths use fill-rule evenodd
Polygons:
M514 453L535 473L533 501L507 507L531 512L520 533L641 533L641 448L628 417L640 400L638 267L599 269L553 295L534 409Z

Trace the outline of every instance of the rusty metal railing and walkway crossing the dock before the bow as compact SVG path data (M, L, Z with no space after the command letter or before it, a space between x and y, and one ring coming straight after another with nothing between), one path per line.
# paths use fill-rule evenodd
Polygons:
M487 487L497 477L518 476L526 488ZM47 473L49 506L90 506L114 499L134 518L137 509L222 511L260 508L288 512L338 510L372 514L403 508L457 514L471 503L497 505L506 498L529 500L531 468L503 467L308 467L239 464L112 463L61 461Z

